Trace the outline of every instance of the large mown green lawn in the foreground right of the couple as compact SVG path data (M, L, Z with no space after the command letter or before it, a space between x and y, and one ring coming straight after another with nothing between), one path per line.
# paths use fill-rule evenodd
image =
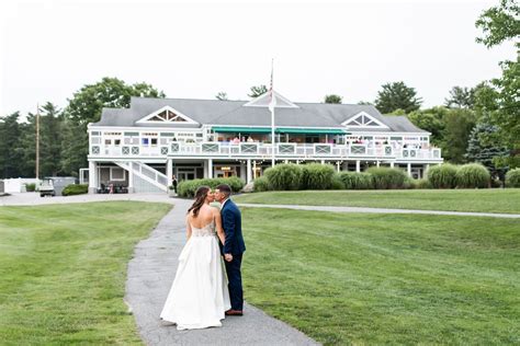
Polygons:
M263 208L242 220L247 301L324 344L520 344L520 220Z

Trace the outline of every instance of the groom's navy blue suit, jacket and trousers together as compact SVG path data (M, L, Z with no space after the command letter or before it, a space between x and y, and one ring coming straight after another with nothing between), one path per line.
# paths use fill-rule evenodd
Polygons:
M237 205L228 199L221 210L222 228L226 234L223 246L224 254L231 254L233 261L226 263L227 279L229 280L229 299L233 310L244 310L244 291L240 266L246 244L242 237L241 215Z

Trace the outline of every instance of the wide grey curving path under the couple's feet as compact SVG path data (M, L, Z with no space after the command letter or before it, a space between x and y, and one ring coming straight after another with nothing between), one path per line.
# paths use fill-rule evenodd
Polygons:
M174 200L174 208L150 237L135 247L128 264L125 300L134 312L147 345L318 345L301 332L261 310L245 304L244 316L229 316L222 327L177 331L159 320L185 243L184 216L191 201ZM245 254L247 256L247 252ZM247 270L247 266L242 268ZM247 291L245 292L247 297Z

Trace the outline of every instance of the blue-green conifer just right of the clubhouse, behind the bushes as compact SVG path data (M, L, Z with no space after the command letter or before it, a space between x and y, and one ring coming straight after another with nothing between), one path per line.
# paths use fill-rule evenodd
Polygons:
M467 140L467 150L465 158L471 162L484 164L491 174L495 174L497 168L494 163L495 158L509 155L509 150L499 142L490 142L490 138L498 131L498 127L489 123L475 125Z

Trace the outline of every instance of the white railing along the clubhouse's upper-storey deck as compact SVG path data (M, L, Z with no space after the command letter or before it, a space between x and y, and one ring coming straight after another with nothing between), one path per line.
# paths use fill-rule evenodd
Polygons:
M95 145L90 147L91 157L108 158L167 158L173 157L207 157L207 158L260 158L269 159L272 155L271 143L261 142L170 142L169 146L108 146ZM397 160L442 160L439 148L394 148L389 145L331 145L331 143L276 143L274 147L276 159L397 159Z

